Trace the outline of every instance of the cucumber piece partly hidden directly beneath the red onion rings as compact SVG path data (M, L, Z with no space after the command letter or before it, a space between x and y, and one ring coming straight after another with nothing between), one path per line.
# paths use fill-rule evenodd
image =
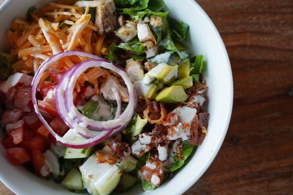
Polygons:
M74 141L82 141L84 140L83 137L75 137ZM64 152L64 158L71 159L71 158L86 158L90 155L92 147L90 148L83 148L83 149L74 149L74 148L66 148Z

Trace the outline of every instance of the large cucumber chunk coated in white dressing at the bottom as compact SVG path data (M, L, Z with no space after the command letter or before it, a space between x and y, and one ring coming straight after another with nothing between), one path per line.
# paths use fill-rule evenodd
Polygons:
M108 195L120 181L120 169L116 164L98 163L96 157L90 156L80 167L84 187L91 195Z

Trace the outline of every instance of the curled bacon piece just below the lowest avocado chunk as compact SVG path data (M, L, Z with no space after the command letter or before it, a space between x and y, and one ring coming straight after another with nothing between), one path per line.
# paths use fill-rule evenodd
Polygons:
M149 116L149 113L151 114L151 116ZM154 116L158 116L159 118L153 119ZM144 110L144 118L146 118L151 124L163 124L166 117L167 110L164 108L164 103L161 102L160 109L158 107L158 102L152 101L147 105L146 110Z

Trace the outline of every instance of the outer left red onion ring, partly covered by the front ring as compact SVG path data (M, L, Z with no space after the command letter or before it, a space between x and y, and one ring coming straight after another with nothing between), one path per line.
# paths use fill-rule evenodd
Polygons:
M94 59L101 59L97 56L91 55L91 54L87 54L84 52L79 52L79 51L67 51L67 52L63 52L63 53L59 53L56 54L54 56L52 56L51 58L45 60L42 65L40 66L39 70L37 71L35 77L33 78L32 81L32 102L35 108L35 113L38 115L39 119L42 121L42 123L45 125L45 127L48 129L48 131L50 132L50 134L52 134L57 141L61 142L63 145L70 147L70 148L76 148L76 149L81 149L81 148L88 148L91 146L94 146L98 143L100 143L101 141L111 137L112 135L116 134L117 131L104 131L104 132L97 132L97 136L96 137L92 137L92 138L88 138L85 139L83 141L72 141L72 140L67 140L64 139L63 137L58 136L53 129L50 127L50 125L47 123L47 121L44 119L44 117L42 117L42 114L40 113L39 107L38 107L38 101L36 98L36 92L37 92L37 86L38 83L42 77L42 74L48 69L48 67L50 66L51 63L62 59L63 57L66 56L84 56L84 57L88 57L88 58L94 58Z

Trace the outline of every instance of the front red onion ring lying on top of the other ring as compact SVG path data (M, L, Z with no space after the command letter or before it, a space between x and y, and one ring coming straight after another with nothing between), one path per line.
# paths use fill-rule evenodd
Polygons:
M75 107L73 103L73 95L72 95L75 83L78 77L86 69L91 67L102 67L102 68L112 70L113 72L116 72L124 79L128 89L128 93L129 93L129 103L126 107L126 110L118 118L113 120L108 120L108 121L95 121L82 115ZM65 92L65 104L66 104L66 107L70 110L69 116L71 117L71 119L75 120L76 122L82 121L79 123L80 126L88 128L88 129L92 129L92 130L106 131L108 128L121 130L125 126L125 124L129 122L129 120L131 119L134 113L134 108L137 102L136 91L130 78L127 76L126 72L122 70L120 67L117 67L114 64L107 62L106 60L90 59L76 65L76 68L74 69L74 71L71 72L69 79L70 79L69 85ZM67 122L69 122L69 120Z

